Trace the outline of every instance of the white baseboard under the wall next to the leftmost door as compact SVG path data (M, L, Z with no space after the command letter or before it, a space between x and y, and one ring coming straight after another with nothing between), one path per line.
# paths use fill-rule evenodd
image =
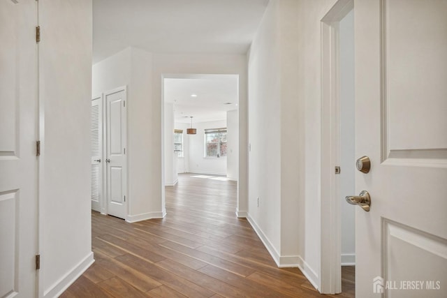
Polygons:
M75 280L94 263L93 252L90 252L78 265L73 267L67 274L59 278L48 290L44 290L43 297L59 297Z

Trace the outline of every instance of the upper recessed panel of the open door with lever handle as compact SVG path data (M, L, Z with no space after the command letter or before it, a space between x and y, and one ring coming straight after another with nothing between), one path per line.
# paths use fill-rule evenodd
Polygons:
M443 82L447 65L434 58L447 52L447 29L438 22L445 17L444 10L432 1L404 2L381 0L381 162L447 167L447 86ZM395 21L394 13L400 20L408 15L411 22ZM403 47L410 38L427 45ZM432 117L423 117L426 114Z

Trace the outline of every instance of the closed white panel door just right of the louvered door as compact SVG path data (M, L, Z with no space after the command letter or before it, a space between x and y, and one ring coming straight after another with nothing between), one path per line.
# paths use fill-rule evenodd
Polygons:
M105 93L108 214L126 218L126 89Z

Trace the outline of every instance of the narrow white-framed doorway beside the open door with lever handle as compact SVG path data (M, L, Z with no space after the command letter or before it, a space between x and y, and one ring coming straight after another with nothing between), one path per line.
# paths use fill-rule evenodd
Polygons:
M335 3L321 34L321 292L354 293L355 208L345 200L356 190L353 1Z

